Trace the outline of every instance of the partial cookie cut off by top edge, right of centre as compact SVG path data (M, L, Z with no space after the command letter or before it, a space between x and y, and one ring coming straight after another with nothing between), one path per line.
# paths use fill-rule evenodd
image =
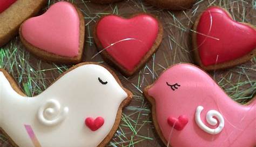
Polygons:
M152 5L163 9L183 10L191 8L196 0L146 0Z

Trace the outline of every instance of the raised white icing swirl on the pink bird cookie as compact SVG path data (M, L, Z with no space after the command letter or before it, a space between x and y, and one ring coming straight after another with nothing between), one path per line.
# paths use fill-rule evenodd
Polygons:
M214 126L219 121L219 126L215 129L211 129L211 128L207 127L203 123L203 121L201 120L200 115L201 115L201 112L203 111L203 109L204 109L203 106L198 106L196 114L195 114L195 119L196 119L196 123L197 123L198 127L201 128L202 130L204 130L208 134L212 134L212 135L219 134L221 132L221 130L223 130L223 128L224 128L224 118L223 118L223 116L218 111L215 111L215 110L210 110L210 111L207 112L206 121L209 124ZM218 121L213 116L216 117Z

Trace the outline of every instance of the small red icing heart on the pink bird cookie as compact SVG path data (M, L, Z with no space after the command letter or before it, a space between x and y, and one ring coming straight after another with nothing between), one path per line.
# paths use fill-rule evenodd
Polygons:
M180 131L183 130L183 128L188 123L188 118L186 115L180 115L178 119L176 117L168 117L167 119L168 124L173 127L174 129Z

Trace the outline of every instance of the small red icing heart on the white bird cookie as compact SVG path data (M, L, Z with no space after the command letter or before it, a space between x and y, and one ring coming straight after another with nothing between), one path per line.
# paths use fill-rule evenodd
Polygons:
M97 117L96 119L93 119L92 117L87 117L85 119L85 124L88 128L90 128L92 131L98 130L100 127L104 124L103 117Z

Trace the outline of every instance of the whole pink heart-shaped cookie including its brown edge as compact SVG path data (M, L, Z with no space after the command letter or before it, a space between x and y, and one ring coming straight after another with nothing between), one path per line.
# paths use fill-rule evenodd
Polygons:
M24 46L36 56L57 63L79 63L84 47L83 14L69 2L53 4L19 28Z

